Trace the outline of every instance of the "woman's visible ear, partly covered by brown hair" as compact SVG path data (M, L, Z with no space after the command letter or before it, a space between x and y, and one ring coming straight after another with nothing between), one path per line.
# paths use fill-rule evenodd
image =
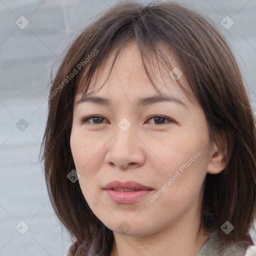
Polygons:
M211 174L217 174L221 172L228 163L230 159L230 155L227 156L227 160L225 162L225 156L227 155L227 141L224 136L218 140L219 148L216 143L213 143L212 150L210 152L210 158L207 165L207 172Z

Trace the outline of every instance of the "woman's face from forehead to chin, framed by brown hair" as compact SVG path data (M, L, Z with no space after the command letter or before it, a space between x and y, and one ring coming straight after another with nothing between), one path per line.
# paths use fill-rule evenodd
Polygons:
M99 70L96 88L110 63ZM75 95L70 145L78 182L93 213L117 233L152 234L175 225L187 228L199 219L202 183L214 153L205 115L175 79L169 75L164 85L157 74L158 92L136 44L129 42L105 85L90 95L108 104ZM179 80L186 82L183 76ZM142 100L159 94L172 100ZM82 122L89 115L98 117ZM104 189L113 180L145 187L130 183L140 190L114 191L111 184Z

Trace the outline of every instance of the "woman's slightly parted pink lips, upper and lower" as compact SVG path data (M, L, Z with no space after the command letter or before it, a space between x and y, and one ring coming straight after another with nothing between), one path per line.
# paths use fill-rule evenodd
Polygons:
M127 188L127 189L139 189L135 191L115 191L113 188ZM151 187L142 185L135 181L121 182L113 180L107 183L104 187L106 195L116 203L133 203L146 195L148 195L153 189Z

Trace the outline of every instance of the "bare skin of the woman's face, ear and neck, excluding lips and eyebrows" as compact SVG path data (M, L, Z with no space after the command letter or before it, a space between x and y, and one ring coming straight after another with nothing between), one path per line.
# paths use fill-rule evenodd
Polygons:
M173 66L178 66L173 56L171 60ZM105 81L110 63L99 69L96 88ZM210 143L204 112L191 101L195 99L186 97L168 74L166 81L159 72L156 74L160 91L180 98L186 107L167 101L136 106L137 99L157 92L146 76L134 41L127 42L109 79L93 94L110 99L111 105L77 104L81 92L75 95L72 156L84 198L114 233L110 256L195 256L209 235L203 229L197 235L202 184L207 172L214 174L224 169L223 155ZM190 90L184 75L179 80ZM94 119L94 123L93 119L81 122L92 114L103 118ZM166 119L150 118L154 114ZM131 124L126 131L118 127L123 118ZM200 156L158 198L149 201L149 196L197 151ZM134 180L153 190L135 203L115 203L103 190L106 183L115 179ZM127 233L118 228L123 221L130 226Z

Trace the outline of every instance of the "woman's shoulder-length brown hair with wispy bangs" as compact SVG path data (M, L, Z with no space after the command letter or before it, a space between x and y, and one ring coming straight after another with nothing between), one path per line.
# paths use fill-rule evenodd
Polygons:
M218 146L226 143L226 167L218 174L207 173L204 180L201 225L209 232L220 232L223 243L239 242L247 248L253 244L249 231L256 216L255 117L230 46L214 24L191 6L119 2L81 31L50 88L41 160L52 206L72 241L76 240L71 255L108 256L113 243L112 230L93 214L79 183L67 178L75 169L69 144L74 95L78 84L83 84L86 93L100 63L117 49L114 63L129 39L136 40L153 86L144 60L154 54L169 72L169 56L158 46L173 52L205 112L211 141ZM78 72L70 78L74 70ZM229 234L220 229L227 220L234 226Z

